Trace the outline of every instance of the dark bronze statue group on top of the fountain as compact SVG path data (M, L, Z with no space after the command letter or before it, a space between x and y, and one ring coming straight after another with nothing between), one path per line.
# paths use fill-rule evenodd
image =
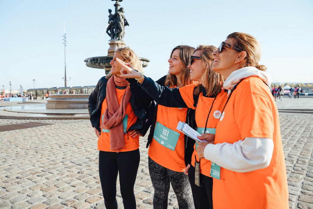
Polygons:
M116 1L115 13L112 14L112 10L109 9L109 24L106 27L106 33L111 37L111 40L123 40L125 35L125 26L129 25L125 16L124 8L119 8L122 0L112 0Z

